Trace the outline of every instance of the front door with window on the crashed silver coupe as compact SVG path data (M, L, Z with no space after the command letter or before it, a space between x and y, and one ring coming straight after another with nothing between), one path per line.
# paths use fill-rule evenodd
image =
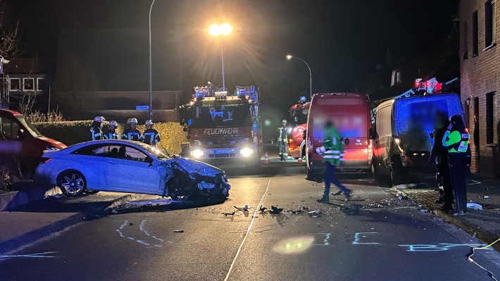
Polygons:
M160 194L158 161L146 162L151 158L144 151L133 146L110 145L105 156L104 177L111 191ZM114 154L118 149L118 154Z

